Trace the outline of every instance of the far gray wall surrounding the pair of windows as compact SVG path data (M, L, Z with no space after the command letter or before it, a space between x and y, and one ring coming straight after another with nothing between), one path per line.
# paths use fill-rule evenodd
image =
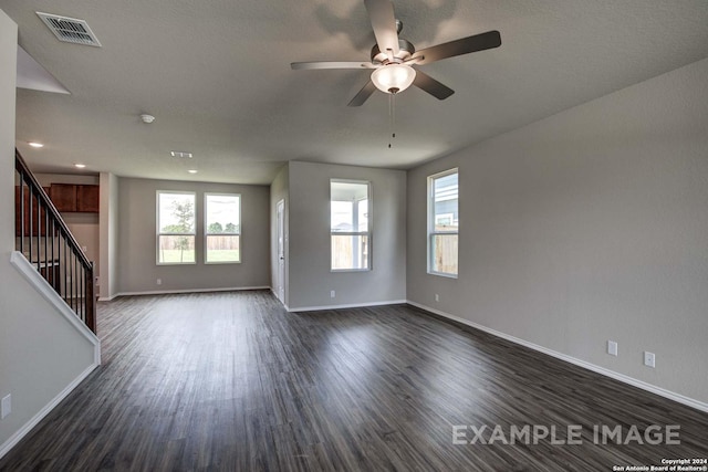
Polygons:
M204 193L241 195L241 263L157 265L157 190L197 193L197 244L202 247ZM229 183L118 179L119 293L270 286L269 188ZM198 256L199 259L199 256ZM162 285L156 280L162 279Z

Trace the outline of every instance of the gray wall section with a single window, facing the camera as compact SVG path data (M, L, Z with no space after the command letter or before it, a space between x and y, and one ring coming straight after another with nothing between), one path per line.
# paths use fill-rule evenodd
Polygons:
M406 298L406 174L310 162L289 165L288 306L364 305ZM372 182L372 271L330 271L330 179ZM336 292L335 298L330 291Z

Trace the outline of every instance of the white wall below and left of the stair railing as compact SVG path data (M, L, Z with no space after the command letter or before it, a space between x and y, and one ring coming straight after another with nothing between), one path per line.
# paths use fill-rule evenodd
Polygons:
M0 11L0 457L94 366L94 346L10 263L14 250L17 25Z

